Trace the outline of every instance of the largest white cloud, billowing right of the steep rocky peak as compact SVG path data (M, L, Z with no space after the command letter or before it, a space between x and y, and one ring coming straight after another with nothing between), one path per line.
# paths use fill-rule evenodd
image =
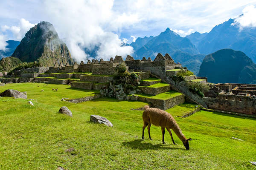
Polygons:
M46 0L45 8L49 20L55 26L78 62L88 56L83 49L99 46L96 58L108 60L115 55L133 52L130 46L122 46L122 41L113 31L122 29L125 22L134 23L134 16L116 15L112 11L113 0ZM51 17L54 16L54 17ZM135 19L137 20L137 19Z

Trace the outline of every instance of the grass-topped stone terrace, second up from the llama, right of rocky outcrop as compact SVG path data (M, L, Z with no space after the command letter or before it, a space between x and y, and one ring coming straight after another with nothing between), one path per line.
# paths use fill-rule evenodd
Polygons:
M144 94L157 95L171 90L171 86L167 83L156 83L150 86L138 86Z

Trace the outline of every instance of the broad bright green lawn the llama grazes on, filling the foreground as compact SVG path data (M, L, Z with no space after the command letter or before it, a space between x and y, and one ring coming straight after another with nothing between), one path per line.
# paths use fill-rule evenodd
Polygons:
M143 111L131 109L147 105L145 102L109 98L61 102L62 97L79 98L95 92L41 83L9 84L0 86L0 92L9 88L27 91L35 106L28 105L26 99L0 98L1 170L55 170L58 166L68 170L256 168L249 163L256 161L256 119L207 111L175 117L184 135L193 139L190 150L185 150L175 134L178 145L172 144L167 132L167 144L161 144L161 128L155 126L151 126L153 141L147 130L141 140ZM58 113L64 105L73 117ZM113 127L89 122L91 114L106 117ZM66 152L69 148L74 151Z

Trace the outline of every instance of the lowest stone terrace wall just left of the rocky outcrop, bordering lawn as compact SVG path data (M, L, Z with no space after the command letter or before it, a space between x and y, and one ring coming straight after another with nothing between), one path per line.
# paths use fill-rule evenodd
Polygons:
M71 82L71 88L81 88L86 90L101 90L102 88L108 88L109 83L96 83L96 82Z

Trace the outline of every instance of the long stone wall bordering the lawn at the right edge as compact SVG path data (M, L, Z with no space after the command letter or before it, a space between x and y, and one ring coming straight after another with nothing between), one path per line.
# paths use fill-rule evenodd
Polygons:
M256 115L256 99L250 96L219 94L219 98L204 97L209 108Z

